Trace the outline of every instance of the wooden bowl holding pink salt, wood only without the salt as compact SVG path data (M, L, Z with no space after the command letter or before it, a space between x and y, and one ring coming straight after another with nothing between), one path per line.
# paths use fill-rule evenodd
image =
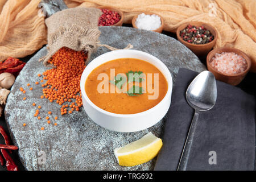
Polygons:
M245 59L246 63L247 63L246 70L243 71L242 73L237 74L237 75L228 75L226 73L222 73L222 72L217 71L215 68L212 67L212 65L210 65L210 62L212 60L212 57L215 55L215 53L221 53L221 52L234 52L237 55L242 56L243 59ZM240 82L243 80L243 78L245 78L246 74L249 72L250 67L251 67L251 60L250 60L249 56L247 56L246 53L240 51L239 49L229 48L229 47L216 48L216 49L213 49L212 51L210 51L207 55L207 68L208 68L208 70L213 73L213 75L215 76L215 78L217 80L226 82L230 85L240 84Z

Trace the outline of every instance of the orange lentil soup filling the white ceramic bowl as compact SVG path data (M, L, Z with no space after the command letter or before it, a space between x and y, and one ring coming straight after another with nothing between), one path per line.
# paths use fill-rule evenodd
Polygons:
M114 69L115 74L117 76L119 73L126 74L129 71L133 72L143 72L144 73L144 81L146 81L146 85L150 84L147 79L148 73L152 74L152 81L150 86L154 89L154 73L158 73L159 79L159 86L158 86L158 97L156 99L148 99L148 96L153 96L154 93L149 93L148 89L144 90L145 93L137 94L136 96L129 96L127 93L110 93L110 80L114 80L114 77L110 77L110 69ZM98 75L100 73L106 73L109 77L108 86L109 92L108 93L99 93L98 92L98 84L102 82L102 80L98 80ZM112 74L113 76L113 74ZM142 86L142 82L133 82L134 85ZM113 84L114 85L114 84ZM104 86L103 86L104 88ZM113 88L113 86L112 86ZM127 90L129 90L129 86L127 86ZM130 86L131 88L131 86ZM157 88L155 88L157 89ZM116 59L112 61L108 61L99 67L95 68L88 76L85 81L85 92L86 95L89 97L90 101L93 102L96 106L109 111L111 113L117 114L135 114L141 113L142 111L146 111L151 109L155 105L157 105L160 101L163 100L164 96L167 93L168 84L166 78L163 76L163 73L159 71L154 65L139 59L133 58L123 58L123 59ZM115 86L115 90L118 90L117 86Z

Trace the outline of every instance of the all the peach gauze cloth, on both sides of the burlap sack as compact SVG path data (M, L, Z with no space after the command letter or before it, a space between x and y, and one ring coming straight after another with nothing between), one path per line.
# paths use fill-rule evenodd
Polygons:
M125 13L124 23L143 11L164 18L164 30L175 32L183 22L202 21L218 31L216 46L241 49L252 60L256 72L256 1L252 0L64 0L69 7L114 6ZM0 61L23 57L46 44L44 18L37 8L40 0L0 0ZM82 3L82 5L81 5Z

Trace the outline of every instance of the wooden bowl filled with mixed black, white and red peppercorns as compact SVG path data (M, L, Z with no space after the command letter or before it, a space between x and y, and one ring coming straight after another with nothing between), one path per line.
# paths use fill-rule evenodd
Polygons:
M176 35L197 56L207 55L218 38L217 30L203 22L183 23L177 28Z

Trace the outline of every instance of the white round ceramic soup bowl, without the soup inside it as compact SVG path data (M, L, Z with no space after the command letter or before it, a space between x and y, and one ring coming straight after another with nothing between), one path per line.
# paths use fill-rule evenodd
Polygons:
M168 90L166 96L164 96L163 100L160 101L158 105L141 113L115 114L101 109L89 100L85 93L85 81L88 75L99 65L120 58L134 58L147 61L163 73L168 83ZM96 59L92 60L87 65L82 73L80 86L82 93L82 105L88 116L98 125L113 131L134 132L147 129L148 127L155 125L164 117L164 115L166 115L171 104L172 76L170 71L162 61L157 59L155 56L142 51L123 49L104 53L103 55L96 57Z

